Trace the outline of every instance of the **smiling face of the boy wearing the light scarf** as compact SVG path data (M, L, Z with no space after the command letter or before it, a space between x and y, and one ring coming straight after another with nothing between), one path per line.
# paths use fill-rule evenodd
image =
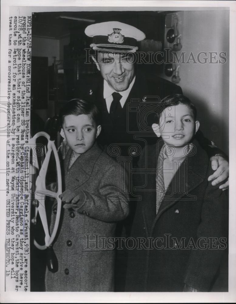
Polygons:
M152 125L156 135L165 143L182 146L191 143L200 123L195 121L193 111L186 105L169 106L162 111L159 124Z

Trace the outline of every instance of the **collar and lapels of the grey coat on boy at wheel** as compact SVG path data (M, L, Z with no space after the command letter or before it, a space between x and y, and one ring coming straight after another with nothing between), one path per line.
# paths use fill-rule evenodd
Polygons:
M64 161L65 182L70 189L76 189L90 178L94 164L102 150L95 143L90 150L81 154L68 170L71 153L72 150L70 149Z

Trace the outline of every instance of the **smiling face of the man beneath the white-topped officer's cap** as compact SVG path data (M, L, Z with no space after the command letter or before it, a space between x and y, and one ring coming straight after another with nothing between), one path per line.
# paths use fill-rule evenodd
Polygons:
M108 85L117 92L128 89L135 76L134 57L98 52L96 65ZM130 62L130 63L129 63Z

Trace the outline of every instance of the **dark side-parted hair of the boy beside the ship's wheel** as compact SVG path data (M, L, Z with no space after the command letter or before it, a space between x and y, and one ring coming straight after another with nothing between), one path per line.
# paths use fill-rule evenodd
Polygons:
M67 115L78 116L81 114L90 116L90 118L95 121L97 126L100 125L101 118L97 106L92 102L75 98L68 101L63 106L63 108L60 109L60 113L59 113L60 126L62 127L65 116Z

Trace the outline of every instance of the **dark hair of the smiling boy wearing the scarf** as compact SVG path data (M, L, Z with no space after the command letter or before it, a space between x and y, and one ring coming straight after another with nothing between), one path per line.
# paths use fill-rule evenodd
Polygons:
M196 109L195 105L193 105L193 103L190 101L190 99L181 94L172 94L172 95L166 96L165 98L162 99L161 107L159 108L159 111L157 111L157 113L155 115L155 122L156 123L160 122L161 113L164 111L164 109L166 109L172 105L180 105L180 104L186 105L187 107L189 107L193 112L194 120L196 120L197 109Z

